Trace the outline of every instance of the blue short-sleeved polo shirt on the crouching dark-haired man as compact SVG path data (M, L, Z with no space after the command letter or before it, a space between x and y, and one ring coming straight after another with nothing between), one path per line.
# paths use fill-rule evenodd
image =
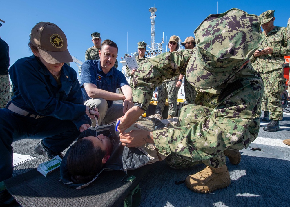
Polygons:
M100 60L87 60L81 65L81 91L84 101L87 101L90 97L84 89L84 83L95 84L97 88L113 93L116 92L117 88L129 85L124 74L114 67L105 74L101 68ZM113 104L113 101L107 100L107 102L109 107Z

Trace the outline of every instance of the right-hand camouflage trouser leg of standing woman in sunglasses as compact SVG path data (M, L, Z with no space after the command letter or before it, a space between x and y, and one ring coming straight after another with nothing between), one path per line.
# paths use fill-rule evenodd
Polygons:
M179 88L176 87L176 81L167 81L165 82L167 89L167 99L168 99L168 115L173 117L176 116L177 112L177 95Z

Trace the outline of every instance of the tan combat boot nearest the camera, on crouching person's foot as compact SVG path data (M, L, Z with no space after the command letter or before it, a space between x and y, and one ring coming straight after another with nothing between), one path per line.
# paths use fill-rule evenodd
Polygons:
M211 193L218 188L225 188L231 183L226 165L213 168L206 166L202 171L186 177L185 184L197 193Z

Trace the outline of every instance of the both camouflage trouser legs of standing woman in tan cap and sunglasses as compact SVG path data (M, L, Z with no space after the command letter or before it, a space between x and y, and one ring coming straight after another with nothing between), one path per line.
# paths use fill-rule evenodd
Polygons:
M178 80L178 76L173 77L173 80L165 80L163 83L158 86L158 103L157 106L160 106L161 112L163 112L165 107L166 99L168 100L168 115L172 117L176 116L177 112L177 95L179 88L176 87L176 77ZM172 78L171 78L172 79Z

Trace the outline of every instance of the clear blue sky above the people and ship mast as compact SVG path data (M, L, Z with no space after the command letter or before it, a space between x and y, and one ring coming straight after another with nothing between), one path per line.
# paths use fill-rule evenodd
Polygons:
M19 58L31 55L27 43L33 26L40 21L57 24L66 34L70 54L84 61L85 51L93 46L90 34L101 33L102 40L117 43L117 61L128 52L137 49L137 42L150 44L151 19L149 8L156 7L155 42L171 35L179 35L182 41L194 36L193 31L209 15L217 13L217 1L35 1L0 0L0 19L4 20L0 36L9 45L10 66ZM260 15L266 10L276 10L277 26L287 26L290 3L280 1L241 0L218 1L218 12L231 8L242 9L249 14ZM166 43L164 47L166 47ZM75 63L71 63L77 71ZM119 63L118 69L121 70Z

